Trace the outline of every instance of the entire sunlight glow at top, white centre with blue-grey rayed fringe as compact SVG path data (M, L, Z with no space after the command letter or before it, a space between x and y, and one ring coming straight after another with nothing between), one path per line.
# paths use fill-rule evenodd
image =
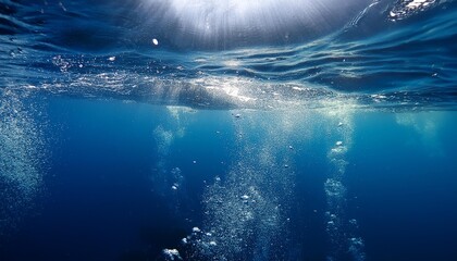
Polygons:
M330 32L363 3L336 0L144 0L151 35L178 46L225 48L284 42ZM155 44L156 45L156 44Z

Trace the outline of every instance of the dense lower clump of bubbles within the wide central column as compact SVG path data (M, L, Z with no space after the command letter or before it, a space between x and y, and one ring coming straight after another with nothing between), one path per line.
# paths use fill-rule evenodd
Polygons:
M251 179L260 175L258 171L239 165L235 172L246 175L247 181L240 181L239 176L224 185L217 181L208 191L205 204L209 231L199 251L221 260L239 259L244 254L268 257L263 248L272 244L273 235L281 227L281 206ZM256 248L249 249L250 246Z

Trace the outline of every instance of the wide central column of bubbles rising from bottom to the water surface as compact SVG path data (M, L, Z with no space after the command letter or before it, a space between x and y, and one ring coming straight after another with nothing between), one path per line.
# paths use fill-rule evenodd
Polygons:
M194 249L193 259L285 260L291 248L287 202L294 171L288 126L284 119L282 124L280 119L262 120L259 112L247 114L233 113L236 160L207 188L202 228L184 239Z

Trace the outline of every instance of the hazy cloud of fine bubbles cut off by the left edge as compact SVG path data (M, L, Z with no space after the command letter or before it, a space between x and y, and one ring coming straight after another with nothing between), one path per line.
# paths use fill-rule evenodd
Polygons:
M13 91L0 92L0 235L32 210L42 188L40 129Z

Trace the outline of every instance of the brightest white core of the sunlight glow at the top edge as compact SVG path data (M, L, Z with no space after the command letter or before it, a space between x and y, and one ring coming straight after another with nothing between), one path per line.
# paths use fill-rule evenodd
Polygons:
M291 14L300 11L306 18L314 9L309 1L273 0L172 0L170 5L183 26L203 37L252 26L272 30L293 18Z

